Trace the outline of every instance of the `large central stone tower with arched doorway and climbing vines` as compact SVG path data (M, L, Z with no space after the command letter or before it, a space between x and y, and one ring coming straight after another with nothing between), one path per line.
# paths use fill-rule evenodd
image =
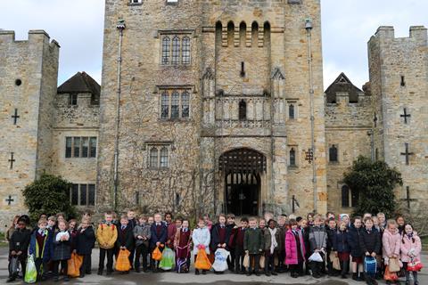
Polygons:
M318 0L105 7L99 207L326 211Z

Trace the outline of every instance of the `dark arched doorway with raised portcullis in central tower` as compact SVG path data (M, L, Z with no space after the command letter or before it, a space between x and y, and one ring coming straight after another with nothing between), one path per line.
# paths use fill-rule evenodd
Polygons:
M266 157L251 149L226 151L218 159L225 179L226 213L237 216L259 215L261 175Z

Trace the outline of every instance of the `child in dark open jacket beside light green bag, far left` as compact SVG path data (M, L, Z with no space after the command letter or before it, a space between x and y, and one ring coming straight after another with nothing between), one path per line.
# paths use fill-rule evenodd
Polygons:
M47 263L52 256L53 232L48 231L46 227L46 219L38 220L37 229L29 240L29 254L34 258L38 281L47 279Z

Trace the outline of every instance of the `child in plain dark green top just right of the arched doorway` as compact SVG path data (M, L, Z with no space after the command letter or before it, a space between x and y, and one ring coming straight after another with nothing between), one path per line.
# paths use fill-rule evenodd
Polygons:
M250 276L252 273L259 276L260 255L263 252L263 248L265 248L263 234L257 226L257 219L255 217L250 218L249 224L250 226L245 230L243 236L243 250L245 254L250 255L250 266L248 267L247 276Z

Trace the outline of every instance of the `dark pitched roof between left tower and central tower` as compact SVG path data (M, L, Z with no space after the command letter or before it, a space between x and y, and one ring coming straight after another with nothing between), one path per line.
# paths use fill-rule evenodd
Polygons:
M99 95L101 86L90 77L85 71L76 73L69 80L65 81L57 89L58 94L95 94Z

